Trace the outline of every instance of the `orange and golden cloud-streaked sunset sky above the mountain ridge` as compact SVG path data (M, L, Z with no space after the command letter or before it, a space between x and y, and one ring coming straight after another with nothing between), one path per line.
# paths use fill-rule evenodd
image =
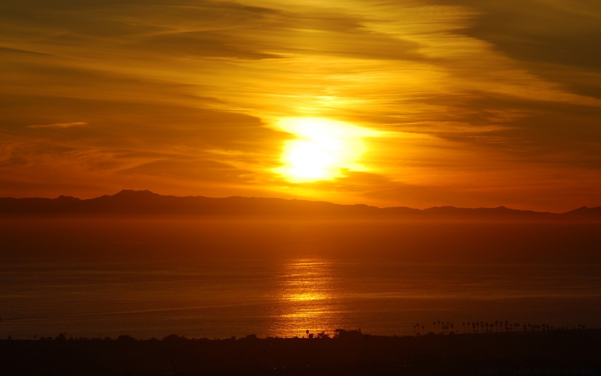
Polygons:
M598 0L5 0L0 196L601 206Z

